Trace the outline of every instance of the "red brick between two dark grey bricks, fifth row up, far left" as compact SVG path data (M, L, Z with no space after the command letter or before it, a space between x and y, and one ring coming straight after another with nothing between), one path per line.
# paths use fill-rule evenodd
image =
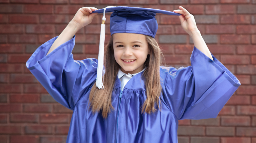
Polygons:
M11 94L9 96L11 103L38 103L38 94Z

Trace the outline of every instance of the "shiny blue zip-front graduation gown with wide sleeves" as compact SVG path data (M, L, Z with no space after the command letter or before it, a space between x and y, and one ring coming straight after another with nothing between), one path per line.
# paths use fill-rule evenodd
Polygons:
M75 36L46 56L57 37L42 44L26 66L57 102L73 110L67 143L177 143L178 120L216 118L240 86L239 80L212 54L214 61L194 47L191 66L159 68L161 112L141 114L146 99L141 72L129 80L122 94L116 77L112 93L115 110L104 120L101 112L93 115L87 109L98 60L73 59Z

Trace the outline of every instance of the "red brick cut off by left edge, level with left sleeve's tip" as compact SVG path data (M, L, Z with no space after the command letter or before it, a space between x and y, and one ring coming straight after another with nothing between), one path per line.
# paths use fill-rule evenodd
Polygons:
M0 72L8 72L13 73L17 72L20 73L22 70L22 65L20 64L0 64Z

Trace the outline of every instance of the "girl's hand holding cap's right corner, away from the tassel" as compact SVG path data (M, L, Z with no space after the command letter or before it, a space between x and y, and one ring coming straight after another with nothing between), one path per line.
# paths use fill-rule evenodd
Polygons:
M179 19L181 23L181 27L192 36L195 32L198 32L197 24L195 18L192 14L190 14L184 7L179 6L179 10L174 10L175 13L180 13Z

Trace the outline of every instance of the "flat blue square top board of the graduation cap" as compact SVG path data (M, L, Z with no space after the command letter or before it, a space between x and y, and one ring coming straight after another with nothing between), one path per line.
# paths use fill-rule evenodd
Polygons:
M114 12L116 10L129 10L129 11L142 10L142 11L150 11L150 12L154 12L154 13L163 13L163 14L168 14L168 15L181 15L180 13L174 13L174 12L170 12L170 11L166 11L166 10L153 9L153 8L142 8L142 7L129 7L129 6L108 7L108 8L106 8L105 13ZM95 10L92 13L103 13L103 12L104 12L104 8Z

